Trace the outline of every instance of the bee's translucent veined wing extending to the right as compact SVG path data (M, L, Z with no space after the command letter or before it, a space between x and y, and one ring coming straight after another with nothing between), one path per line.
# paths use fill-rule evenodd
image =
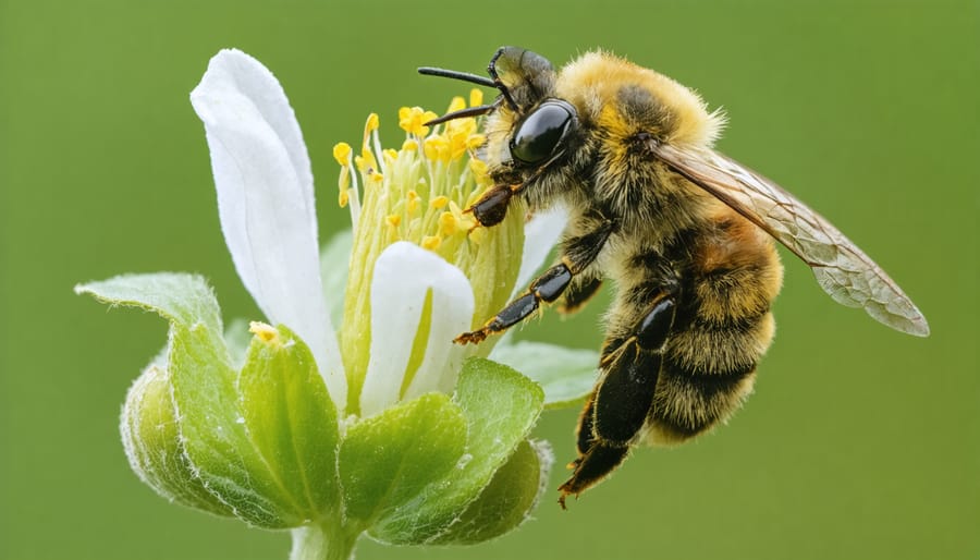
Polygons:
M835 302L861 307L893 329L929 334L926 317L898 284L837 228L780 185L711 149L661 144L654 153L795 253Z

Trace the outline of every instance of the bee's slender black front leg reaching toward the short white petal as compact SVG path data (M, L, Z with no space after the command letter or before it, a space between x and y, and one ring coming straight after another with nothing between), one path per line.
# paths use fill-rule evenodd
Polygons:
M477 203L479 204L479 203ZM490 334L503 332L520 322L538 309L541 302L552 303L572 284L576 275L596 260L610 233L613 222L599 219L595 228L584 235L569 238L563 243L561 263L549 268L531 282L524 295L509 303L503 309L488 320L480 329L464 332L453 342L457 344L478 344ZM596 284L593 292L599 285Z

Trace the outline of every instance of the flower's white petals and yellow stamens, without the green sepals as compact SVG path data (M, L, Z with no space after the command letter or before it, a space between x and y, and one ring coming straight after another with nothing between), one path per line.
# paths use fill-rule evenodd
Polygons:
M563 212L536 217L527 224L519 278L514 270L499 270L500 258L481 258L479 252L519 240L519 210L511 212L517 224L511 230L501 224L474 235L460 229L451 239L449 222L465 220L460 207L478 195L473 173L456 162L463 154L452 144L451 126L430 143L418 122L403 124L415 148L406 142L402 151L382 154L373 117L357 159L364 200L356 183L350 186L356 174L350 150L346 158L338 156L346 162L341 202L350 204L357 222L339 341L327 297L342 294L323 293L309 157L282 87L254 58L222 50L191 101L207 132L221 229L238 276L271 322L286 325L309 345L341 417L345 407L348 414L370 416L403 399L452 391L462 361L489 349L455 345L453 338L489 318L515 285L523 289L563 229ZM466 138L474 135L469 131ZM413 150L415 156L401 157ZM469 186L439 185L440 178ZM422 187L428 192L419 193ZM413 200L425 205L417 217ZM430 209L442 228L438 231L446 235L427 230ZM450 218L440 221L445 214ZM509 261L518 261L513 251L493 246ZM493 279L489 288L486 278Z

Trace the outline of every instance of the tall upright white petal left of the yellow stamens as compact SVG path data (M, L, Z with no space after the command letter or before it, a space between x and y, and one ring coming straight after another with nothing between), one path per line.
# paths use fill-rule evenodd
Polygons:
M191 104L205 124L221 230L238 276L271 322L309 345L342 407L346 379L320 284L313 174L285 93L260 62L222 50Z

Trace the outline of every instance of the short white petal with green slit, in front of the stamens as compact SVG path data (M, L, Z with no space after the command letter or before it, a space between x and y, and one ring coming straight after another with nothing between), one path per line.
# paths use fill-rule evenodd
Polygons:
M470 326L473 289L458 268L434 253L404 241L394 243L378 257L371 279L371 356L360 393L363 416L397 402L429 292L432 315L426 353L405 398L452 390L465 351L452 340Z

